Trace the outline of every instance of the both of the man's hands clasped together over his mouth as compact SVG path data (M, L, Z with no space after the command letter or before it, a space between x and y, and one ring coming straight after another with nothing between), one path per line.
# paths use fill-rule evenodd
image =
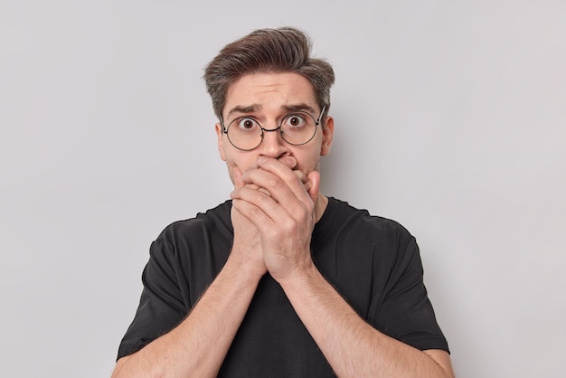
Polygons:
M246 172L233 168L231 255L259 276L269 271L279 282L312 266L320 175L305 175L296 166L292 156L259 156Z

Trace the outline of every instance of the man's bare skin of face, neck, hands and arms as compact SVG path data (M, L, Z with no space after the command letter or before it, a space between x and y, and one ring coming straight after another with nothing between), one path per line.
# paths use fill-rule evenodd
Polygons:
M276 128L289 106L310 107L317 115L315 99L310 82L298 74L246 75L231 85L223 118L253 115L264 128ZM338 376L454 376L448 353L421 352L365 323L311 260L311 233L328 202L319 193L318 166L332 146L334 120L324 123L304 146L267 132L252 151L231 146L216 125L219 153L234 184L230 257L189 316L118 360L113 376L216 376L259 279L268 272Z

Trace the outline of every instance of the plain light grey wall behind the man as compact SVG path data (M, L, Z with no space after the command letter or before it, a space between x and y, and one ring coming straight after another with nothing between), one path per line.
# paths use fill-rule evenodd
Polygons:
M109 376L149 244L231 191L203 67L283 25L335 67L323 192L416 236L458 377L563 376L562 0L3 0L2 376Z

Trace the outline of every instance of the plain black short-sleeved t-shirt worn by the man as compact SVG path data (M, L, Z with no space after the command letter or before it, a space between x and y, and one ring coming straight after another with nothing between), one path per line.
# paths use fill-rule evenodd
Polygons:
M141 349L186 317L228 259L233 240L230 212L227 201L196 218L170 224L152 243L137 314L118 358ZM399 223L329 198L315 225L311 251L325 279L370 325L420 350L448 352L423 284L419 248ZM334 373L282 288L266 274L219 376Z

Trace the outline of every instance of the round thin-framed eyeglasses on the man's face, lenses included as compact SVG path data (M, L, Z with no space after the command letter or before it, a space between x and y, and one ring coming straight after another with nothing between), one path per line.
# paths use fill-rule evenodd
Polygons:
M232 146L242 150L251 151L259 147L266 131L277 131L289 145L302 146L310 142L316 135L316 127L325 114L326 107L320 111L318 118L314 118L306 111L297 110L288 113L281 119L278 128L262 128L256 118L244 116L234 118L224 127L221 119L222 132L226 134Z

